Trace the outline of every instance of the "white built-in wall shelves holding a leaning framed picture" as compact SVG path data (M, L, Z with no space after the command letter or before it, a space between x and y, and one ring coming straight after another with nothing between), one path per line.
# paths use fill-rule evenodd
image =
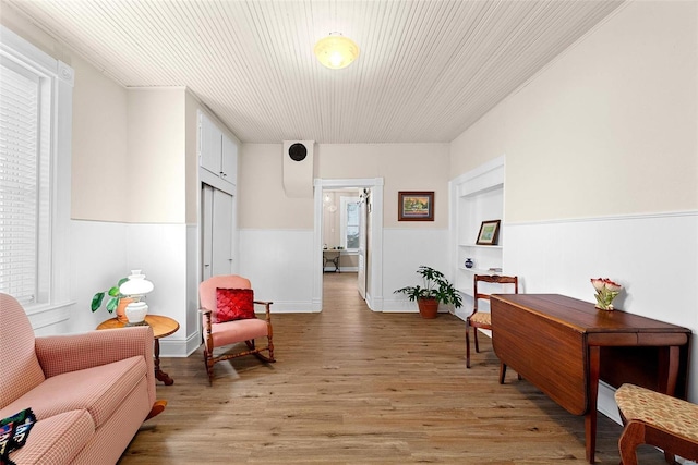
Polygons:
M450 181L452 271L454 285L464 297L458 316L470 315L474 274L503 274L504 156ZM501 220L497 245L477 245L483 221ZM466 267L470 258L473 267ZM486 292L486 291L485 291Z

